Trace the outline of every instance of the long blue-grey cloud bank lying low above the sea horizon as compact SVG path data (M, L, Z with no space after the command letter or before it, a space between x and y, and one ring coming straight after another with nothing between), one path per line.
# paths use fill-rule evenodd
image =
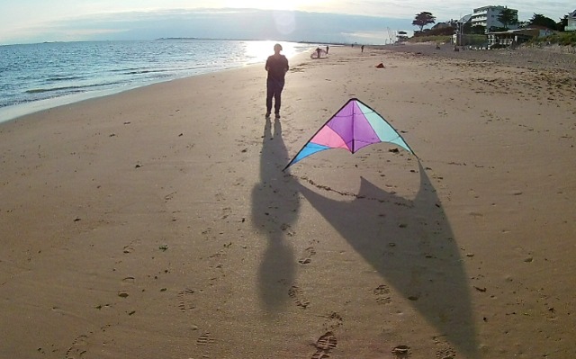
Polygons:
M170 9L103 13L29 29L37 41L153 40L195 37L238 40L384 43L387 28L410 30L411 20L338 13L255 9ZM373 38L368 36L370 33Z

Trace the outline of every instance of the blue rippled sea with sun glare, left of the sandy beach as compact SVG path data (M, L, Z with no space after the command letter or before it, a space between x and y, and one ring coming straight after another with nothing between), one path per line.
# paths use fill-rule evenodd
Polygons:
M288 58L310 44L280 41ZM0 122L143 85L263 63L275 41L161 39L0 46Z

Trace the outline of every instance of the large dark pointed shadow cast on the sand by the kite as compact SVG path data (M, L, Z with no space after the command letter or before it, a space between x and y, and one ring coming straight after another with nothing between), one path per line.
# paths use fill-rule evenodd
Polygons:
M419 315L469 357L477 356L470 284L460 249L437 191L419 163L420 187L414 200L361 179L352 201L329 199L300 185L300 192L358 254ZM321 186L318 186L322 188ZM391 292L392 293L392 292Z

